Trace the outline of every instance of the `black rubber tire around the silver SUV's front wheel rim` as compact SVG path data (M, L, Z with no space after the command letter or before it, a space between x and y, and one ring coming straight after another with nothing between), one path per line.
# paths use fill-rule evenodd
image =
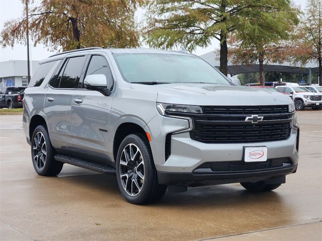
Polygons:
M144 182L142 189L140 193L134 197L130 196L123 188L122 183L121 183L121 177L120 177L120 158L122 151L125 146L128 144L135 144L142 155L143 162L144 162ZM147 141L141 136L141 135L136 135L136 134L131 134L127 137L124 138L122 141L118 152L117 152L117 158L116 158L116 177L117 177L117 184L119 186L119 189L122 193L122 195L125 197L127 201L130 203L141 203L142 200L146 198L146 195L149 192L150 185L153 184L153 179L154 179L154 165L153 165L153 159L152 159L152 154L150 151L149 144Z

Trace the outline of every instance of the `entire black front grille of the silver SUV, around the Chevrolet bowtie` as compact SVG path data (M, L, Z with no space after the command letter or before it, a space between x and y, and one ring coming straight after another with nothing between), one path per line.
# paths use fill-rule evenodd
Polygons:
M203 143L252 143L281 141L289 138L293 114L288 105L269 106L201 106L202 114L191 114L192 140ZM246 122L251 115L263 121Z

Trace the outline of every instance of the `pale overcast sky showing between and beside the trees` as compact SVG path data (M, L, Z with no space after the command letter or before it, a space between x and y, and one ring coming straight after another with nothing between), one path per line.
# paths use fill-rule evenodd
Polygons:
M293 0L293 2L300 6L302 9L305 8L306 0ZM20 0L0 0L0 31L4 28L4 23L11 19L17 19L22 17L23 6ZM136 19L139 21L144 14L144 10L139 9L136 13ZM147 47L147 46L144 46ZM211 46L207 48L197 48L194 54L201 55L208 53L216 48L219 48L219 42L213 40ZM53 52L48 51L48 48L38 44L36 47L31 47L31 59L42 60L47 58ZM27 50L26 46L16 43L14 48L11 47L2 48L0 46L0 62L8 60L26 60Z

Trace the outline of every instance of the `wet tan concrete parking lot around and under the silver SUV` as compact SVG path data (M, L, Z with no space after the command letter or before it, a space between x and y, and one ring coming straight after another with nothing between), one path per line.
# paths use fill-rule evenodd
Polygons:
M189 188L129 204L116 178L65 164L38 176L22 115L0 115L1 240L321 240L322 110L297 111L297 172L272 192Z

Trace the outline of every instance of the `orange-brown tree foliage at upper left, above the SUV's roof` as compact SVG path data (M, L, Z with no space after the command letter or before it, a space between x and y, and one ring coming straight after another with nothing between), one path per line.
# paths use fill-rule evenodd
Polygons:
M25 1L22 0L25 6ZM41 0L29 10L29 33L34 44L63 50L100 47L137 47L134 21L143 0ZM26 9L25 9L26 11ZM26 14L25 14L26 16ZM5 23L0 44L14 46L26 39L27 18Z

